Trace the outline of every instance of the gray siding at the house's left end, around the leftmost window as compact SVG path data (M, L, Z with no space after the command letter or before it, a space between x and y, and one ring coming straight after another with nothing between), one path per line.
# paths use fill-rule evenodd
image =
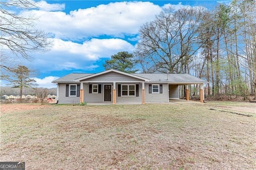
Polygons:
M68 84L68 83L59 83L58 84L59 85L58 104L80 103L80 97L66 97L66 84ZM71 84L71 83L69 83L69 84Z

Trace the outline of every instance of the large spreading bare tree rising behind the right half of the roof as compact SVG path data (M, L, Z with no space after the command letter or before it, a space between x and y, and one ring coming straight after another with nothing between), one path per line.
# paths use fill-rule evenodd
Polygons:
M198 31L205 14L200 7L170 7L144 24L135 50L143 71L186 73L186 65L202 46Z

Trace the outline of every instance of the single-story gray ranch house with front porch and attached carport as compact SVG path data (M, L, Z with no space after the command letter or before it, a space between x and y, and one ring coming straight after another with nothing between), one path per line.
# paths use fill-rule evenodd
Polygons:
M86 101L112 102L115 105L169 102L169 99L179 99L179 85L190 84L200 85L200 101L203 102L203 84L208 82L189 74L129 74L110 69L94 74L71 73L52 83L57 83L58 103Z

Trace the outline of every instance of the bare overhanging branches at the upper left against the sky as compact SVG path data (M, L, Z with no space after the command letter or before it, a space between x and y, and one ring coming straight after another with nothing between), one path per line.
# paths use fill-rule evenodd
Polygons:
M48 35L36 29L37 18L24 16L20 12L32 8L36 8L36 3L30 0L0 1L1 79L5 79L6 74L20 64L14 61L32 60L31 52L45 52L51 47Z

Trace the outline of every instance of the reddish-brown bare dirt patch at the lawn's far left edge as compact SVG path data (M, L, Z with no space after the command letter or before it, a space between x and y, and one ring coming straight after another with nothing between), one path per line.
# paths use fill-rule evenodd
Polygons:
M1 104L0 113L12 113L17 111L28 111L33 109L40 109L48 107L47 105L38 105L38 104Z

